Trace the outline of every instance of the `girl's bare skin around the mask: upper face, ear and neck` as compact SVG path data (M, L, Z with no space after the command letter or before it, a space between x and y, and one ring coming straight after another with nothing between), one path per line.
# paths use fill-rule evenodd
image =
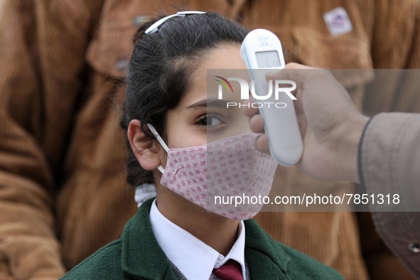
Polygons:
M240 58L239 49L239 45L222 45L220 48L212 49L200 61L199 67L193 71L193 77L190 77L190 89L185 92L178 106L166 114L166 144L170 149L201 146L230 136L252 132L249 128L249 118L243 114L242 109L227 108L227 102L243 103L240 99L239 83L232 82L235 93L223 94L223 99L220 100L217 98L218 84L214 82L217 78L208 79L208 69L235 69L247 73L247 67ZM208 81L212 81L211 86L208 86ZM212 88L213 84L215 87ZM203 222L203 217L208 219L211 225L229 224L233 232L232 238L236 239L237 221L208 212L161 185L162 173L156 168L159 165L166 168L167 153L157 141L154 141L152 148L147 145L150 143L149 139L141 132L138 120L131 121L128 136L141 166L154 173L158 208L163 215L192 232L193 235L197 234L196 236L200 235L197 222L198 220ZM197 220L196 217L200 219Z

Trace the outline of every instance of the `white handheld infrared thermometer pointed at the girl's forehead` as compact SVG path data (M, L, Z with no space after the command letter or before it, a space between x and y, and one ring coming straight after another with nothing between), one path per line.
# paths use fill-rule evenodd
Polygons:
M294 166L301 159L303 142L291 91L296 83L290 80L266 80L267 72L284 68L283 49L279 38L265 29L248 33L241 45L241 58L247 64L254 103L264 119L271 156L282 166ZM285 85L285 87L282 87ZM284 91L281 91L284 90ZM270 95L271 92L271 95Z

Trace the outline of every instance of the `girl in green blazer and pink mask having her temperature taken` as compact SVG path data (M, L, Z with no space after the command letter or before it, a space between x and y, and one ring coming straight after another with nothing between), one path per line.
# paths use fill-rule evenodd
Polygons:
M254 149L249 119L208 95L208 69L246 69L247 30L215 13L181 12L139 28L126 74L127 180L154 183L122 237L63 279L341 279L274 241L254 205L214 195L268 195L276 163ZM235 99L237 98L237 99Z

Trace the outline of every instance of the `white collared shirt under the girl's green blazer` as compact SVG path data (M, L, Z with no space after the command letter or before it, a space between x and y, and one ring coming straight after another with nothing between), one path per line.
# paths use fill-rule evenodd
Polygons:
M150 210L151 228L166 257L175 264L189 280L218 279L212 270L219 268L229 259L234 259L242 266L245 277L245 227L239 222L239 233L230 252L223 257L212 247L197 237L183 230L162 215L156 206L156 199Z

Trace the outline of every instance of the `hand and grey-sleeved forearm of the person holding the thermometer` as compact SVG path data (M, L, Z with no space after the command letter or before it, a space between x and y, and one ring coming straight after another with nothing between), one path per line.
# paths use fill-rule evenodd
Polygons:
M415 77L410 87L419 92L420 72L405 72ZM267 78L296 82L296 117L305 146L297 166L320 181L362 184L361 199L369 205L379 235L418 279L420 114L384 112L366 117L330 72L298 63L289 63ZM258 109L245 107L244 114L250 117L252 131L260 133L255 146L269 154Z

